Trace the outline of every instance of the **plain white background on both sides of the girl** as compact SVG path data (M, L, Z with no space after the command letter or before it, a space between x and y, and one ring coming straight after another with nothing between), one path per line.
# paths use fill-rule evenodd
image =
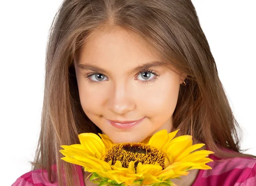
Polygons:
M38 140L48 30L61 0L0 0L1 186L31 169ZM219 76L256 155L256 1L192 0ZM216 108L218 109L218 108Z

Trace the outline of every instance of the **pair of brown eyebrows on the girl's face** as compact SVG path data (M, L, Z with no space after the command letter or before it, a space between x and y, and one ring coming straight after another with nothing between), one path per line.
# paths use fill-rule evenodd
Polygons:
M160 67L163 67L163 66L166 66L167 64L164 63L164 62L160 62L160 61L150 61L150 62L147 62L147 63L144 63L142 65L139 65L137 66L136 68L130 70L130 73L134 73L134 72L137 72L141 69L148 69L148 68L160 68ZM81 70L91 70L91 71L96 71L96 72L99 72L99 73L107 73L106 70L96 66L96 65L91 65L91 64L88 64L88 63L84 63L84 64L80 64L78 65L79 69Z

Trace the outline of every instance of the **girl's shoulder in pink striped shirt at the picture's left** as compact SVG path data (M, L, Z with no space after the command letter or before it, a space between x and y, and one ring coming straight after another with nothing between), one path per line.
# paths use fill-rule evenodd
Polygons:
M56 183L48 181L48 174L45 169L36 169L21 175L12 186L55 186Z

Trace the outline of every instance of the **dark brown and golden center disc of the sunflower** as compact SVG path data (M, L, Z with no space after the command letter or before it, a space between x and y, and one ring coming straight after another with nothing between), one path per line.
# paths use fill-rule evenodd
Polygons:
M159 163L164 169L166 155L155 147L140 143L113 144L104 156L104 161L121 161L122 167L128 168L129 162L134 161L135 170L139 162L142 164Z

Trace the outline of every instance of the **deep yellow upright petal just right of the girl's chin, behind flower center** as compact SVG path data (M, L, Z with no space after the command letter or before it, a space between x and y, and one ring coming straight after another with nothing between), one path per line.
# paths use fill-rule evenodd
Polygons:
M157 149L162 149L163 145L166 143L167 140L168 132L166 129L163 129L152 135L148 142L148 145L156 147Z

